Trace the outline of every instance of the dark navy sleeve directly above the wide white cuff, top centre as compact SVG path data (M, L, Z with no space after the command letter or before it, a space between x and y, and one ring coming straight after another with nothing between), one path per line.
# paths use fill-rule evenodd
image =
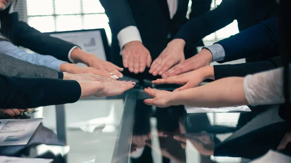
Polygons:
M127 0L100 0L109 18L113 36L128 26L136 26Z

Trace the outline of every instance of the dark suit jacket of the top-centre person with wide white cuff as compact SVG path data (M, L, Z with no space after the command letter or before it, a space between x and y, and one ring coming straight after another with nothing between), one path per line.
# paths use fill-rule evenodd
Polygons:
M189 0L178 0L178 10L173 19L170 19L166 0L100 0L109 17L109 24L113 33L112 58L113 62L123 66L117 34L128 26L136 26L141 34L143 44L151 53L152 59L156 59L175 36L180 27L185 24ZM190 18L202 15L210 10L211 0L192 0L192 13ZM199 45L203 45L200 42ZM196 45L194 45L196 46ZM193 47L194 47L193 46ZM191 57L196 48L190 48L185 53L186 58ZM124 74L139 79L154 79L156 77L145 73L134 75L125 70Z

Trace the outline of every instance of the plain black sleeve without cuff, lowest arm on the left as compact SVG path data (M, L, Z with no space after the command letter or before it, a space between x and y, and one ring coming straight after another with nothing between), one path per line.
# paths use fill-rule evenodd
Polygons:
M74 103L81 96L77 81L48 78L18 78L0 74L0 108L27 109Z

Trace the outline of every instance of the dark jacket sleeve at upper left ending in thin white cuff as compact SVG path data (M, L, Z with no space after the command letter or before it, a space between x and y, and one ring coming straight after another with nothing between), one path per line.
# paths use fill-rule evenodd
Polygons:
M42 55L51 55L57 59L70 62L68 52L75 46L61 39L50 37L30 27L18 19L18 13L9 14L10 7L0 11L1 29L3 36L17 46L29 48Z

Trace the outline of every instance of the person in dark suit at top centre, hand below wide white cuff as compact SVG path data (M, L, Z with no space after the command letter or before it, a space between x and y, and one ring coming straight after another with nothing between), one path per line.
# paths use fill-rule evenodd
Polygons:
M124 66L123 74L129 77L141 81L156 79L148 73L151 62L188 21L189 0L100 0L100 3L113 33L113 63ZM210 4L211 0L192 0L189 18L208 12ZM202 41L190 51L196 52L197 45L203 45ZM185 56L177 56L177 62L192 55L190 51Z

